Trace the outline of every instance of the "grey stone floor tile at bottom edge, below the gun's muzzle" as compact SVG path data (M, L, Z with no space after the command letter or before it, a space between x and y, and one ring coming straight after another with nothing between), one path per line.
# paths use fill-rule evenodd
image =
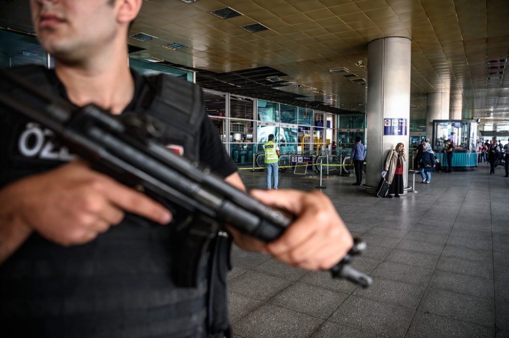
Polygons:
M329 321L384 337L403 337L415 311L350 296Z

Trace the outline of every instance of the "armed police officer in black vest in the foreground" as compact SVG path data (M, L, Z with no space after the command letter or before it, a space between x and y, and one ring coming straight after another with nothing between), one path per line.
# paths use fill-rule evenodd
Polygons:
M78 106L94 102L113 114L135 107L144 91L156 95L127 65L128 27L142 0L30 4L37 38L55 58L55 70L32 66L12 72L24 72L19 76L27 79L37 75L33 82L54 95ZM7 86L0 83L2 90ZM244 189L210 120L201 120L191 140L200 139L204 148L184 151ZM183 224L179 215L164 226L174 217L165 207L82 161L24 156L18 141L25 128L40 127L0 106L1 335L230 336L224 285L230 240L216 239L209 248L197 287L177 287L172 266L182 243L174 236ZM42 132L51 133L37 133ZM44 149L56 146L44 142ZM309 270L330 268L352 247L325 195L293 190L252 195L299 216L268 244L225 229L239 247ZM126 211L148 218L151 226L140 226Z

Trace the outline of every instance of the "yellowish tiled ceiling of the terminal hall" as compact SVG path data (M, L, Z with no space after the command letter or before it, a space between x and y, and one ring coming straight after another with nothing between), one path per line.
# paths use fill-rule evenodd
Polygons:
M26 3L0 2L0 26L33 32ZM242 15L222 19L211 14L227 7ZM509 80L501 68L505 63L490 63L507 59L507 18L507 0L198 0L190 4L145 0L130 34L143 32L157 39L129 39L129 44L145 48L133 56L153 56L203 70L197 78L204 85L213 85L213 78L249 77L271 69L296 85L269 84L264 90L364 111L366 86L329 70L347 68L357 76L354 79L367 79L366 67L356 65L359 60L364 65L369 62L367 43L406 37L412 40L411 118L426 118L426 94L450 91L451 106L462 101L464 118L481 118L489 128L509 130ZM269 29L250 33L242 28L253 23ZM185 48L162 47L172 43ZM494 66L498 68L489 69Z

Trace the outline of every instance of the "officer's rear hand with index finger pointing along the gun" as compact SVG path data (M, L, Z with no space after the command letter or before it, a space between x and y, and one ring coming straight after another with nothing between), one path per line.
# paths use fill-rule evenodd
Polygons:
M171 213L147 196L91 170L81 161L16 183L18 216L43 237L82 244L119 224L124 211L165 224Z

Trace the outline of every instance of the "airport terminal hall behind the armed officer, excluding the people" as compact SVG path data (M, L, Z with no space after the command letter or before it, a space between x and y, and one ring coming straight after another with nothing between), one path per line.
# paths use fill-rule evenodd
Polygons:
M366 289L233 249L237 338L509 337L509 178L479 145L509 142L507 0L144 0L129 66L200 84L248 189L321 189L366 243ZM0 67L54 67L29 2L0 1ZM351 150L366 146L361 186ZM427 141L452 172L416 173ZM374 194L389 149L408 153L405 193ZM34 146L37 142L34 143ZM37 153L41 149L32 149ZM503 151L502 151L503 152Z

